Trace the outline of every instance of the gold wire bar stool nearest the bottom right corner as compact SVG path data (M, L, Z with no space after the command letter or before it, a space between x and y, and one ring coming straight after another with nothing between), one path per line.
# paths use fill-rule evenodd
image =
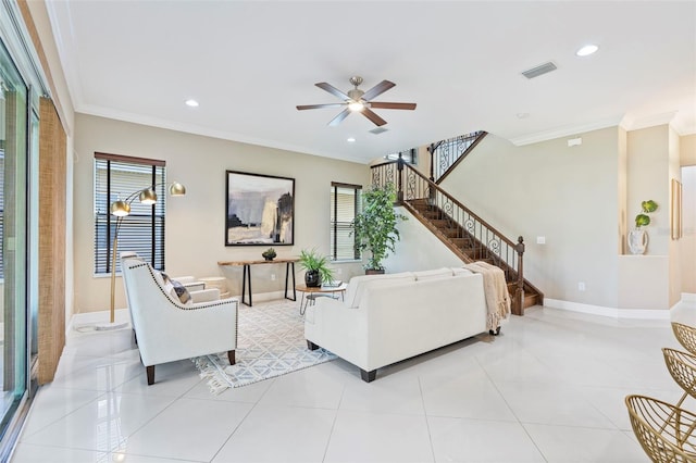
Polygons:
M696 462L696 415L646 396L625 399L633 433L654 462Z

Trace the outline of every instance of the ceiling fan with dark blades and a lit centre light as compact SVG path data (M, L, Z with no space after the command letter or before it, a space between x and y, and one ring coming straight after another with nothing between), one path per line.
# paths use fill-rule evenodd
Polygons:
M380 117L372 108L385 109L385 110L414 110L415 103L387 103L383 101L372 101L373 98L384 93L391 87L396 86L393 82L382 80L380 84L375 85L368 91L362 91L358 87L362 84L362 77L353 76L350 77L350 84L355 87L348 92L343 92L331 84L326 84L325 82L320 82L319 84L314 84L316 87L328 91L330 93L344 100L343 103L327 103L327 104L302 104L298 105L297 109L299 111L302 110L314 110L318 108L346 108L343 110L336 117L331 120L328 123L330 126L338 125L343 120L348 117L348 114L352 112L362 113L365 117L372 121L376 126L382 126L387 122Z

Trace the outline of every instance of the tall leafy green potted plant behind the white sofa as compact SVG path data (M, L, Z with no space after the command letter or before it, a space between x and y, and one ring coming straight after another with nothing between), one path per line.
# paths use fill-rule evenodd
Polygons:
M394 185L383 187L374 185L362 196L362 211L356 214L352 233L360 250L369 250L370 258L363 265L365 273L384 273L382 261L395 252L395 245L400 239L397 224L406 221L403 214L394 210L396 191Z

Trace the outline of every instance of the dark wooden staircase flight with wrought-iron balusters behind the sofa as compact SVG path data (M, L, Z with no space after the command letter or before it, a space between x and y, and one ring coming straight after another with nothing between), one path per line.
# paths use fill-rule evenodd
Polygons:
M512 313L543 304L544 295L524 279L522 237L517 242L467 209L457 199L402 160L372 166L372 183L394 183L397 204L409 210L464 263L484 261L501 268L508 283Z

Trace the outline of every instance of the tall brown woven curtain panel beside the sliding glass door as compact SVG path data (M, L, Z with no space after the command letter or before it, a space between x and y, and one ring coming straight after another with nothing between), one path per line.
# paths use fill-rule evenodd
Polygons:
M53 380L65 346L65 132L53 102L39 107L38 383Z

